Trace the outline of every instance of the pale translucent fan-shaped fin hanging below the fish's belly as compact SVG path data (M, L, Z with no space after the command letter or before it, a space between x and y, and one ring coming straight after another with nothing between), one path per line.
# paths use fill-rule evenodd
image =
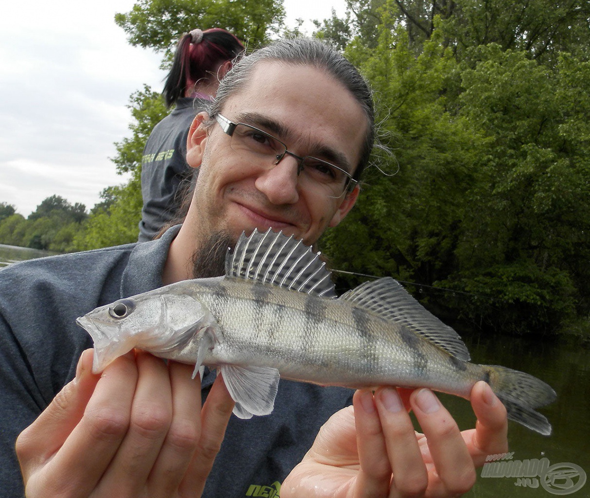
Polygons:
M220 370L225 386L235 401L236 416L251 418L273 411L279 379L277 369L225 364Z

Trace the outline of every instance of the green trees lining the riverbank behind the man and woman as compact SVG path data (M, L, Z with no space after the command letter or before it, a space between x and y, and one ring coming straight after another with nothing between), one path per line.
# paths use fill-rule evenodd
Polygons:
M223 4L224 19L145 0L117 23L164 60L186 26L222 22L250 48L281 27L280 2L252 19L240 2L208 3ZM590 337L590 4L347 3L316 35L371 83L382 147L355 209L320 240L330 265L414 282L408 289L448 321ZM73 250L136 240L143 144L166 109L149 87L129 107L132 136L113 158L129 183L104 191L87 217L80 206L5 217L0 242ZM361 279L341 274L338 286Z

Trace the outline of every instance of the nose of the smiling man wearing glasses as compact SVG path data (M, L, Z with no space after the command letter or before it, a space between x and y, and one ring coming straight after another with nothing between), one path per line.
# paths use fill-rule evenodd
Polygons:
M294 204L299 200L297 176L299 159L285 154L276 165L261 172L255 185L273 204Z

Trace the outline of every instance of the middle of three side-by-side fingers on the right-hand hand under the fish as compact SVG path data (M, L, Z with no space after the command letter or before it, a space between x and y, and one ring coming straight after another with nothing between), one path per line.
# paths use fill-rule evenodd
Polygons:
M414 425L395 388L380 388L375 399L391 464L392 487L401 496L421 496L428 486L428 474Z

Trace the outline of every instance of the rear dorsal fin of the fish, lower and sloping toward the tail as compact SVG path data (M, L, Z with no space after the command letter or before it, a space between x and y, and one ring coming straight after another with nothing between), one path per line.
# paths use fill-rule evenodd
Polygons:
M385 320L402 323L456 358L470 360L467 346L459 334L438 320L389 276L365 282L340 296L340 299L353 302Z

